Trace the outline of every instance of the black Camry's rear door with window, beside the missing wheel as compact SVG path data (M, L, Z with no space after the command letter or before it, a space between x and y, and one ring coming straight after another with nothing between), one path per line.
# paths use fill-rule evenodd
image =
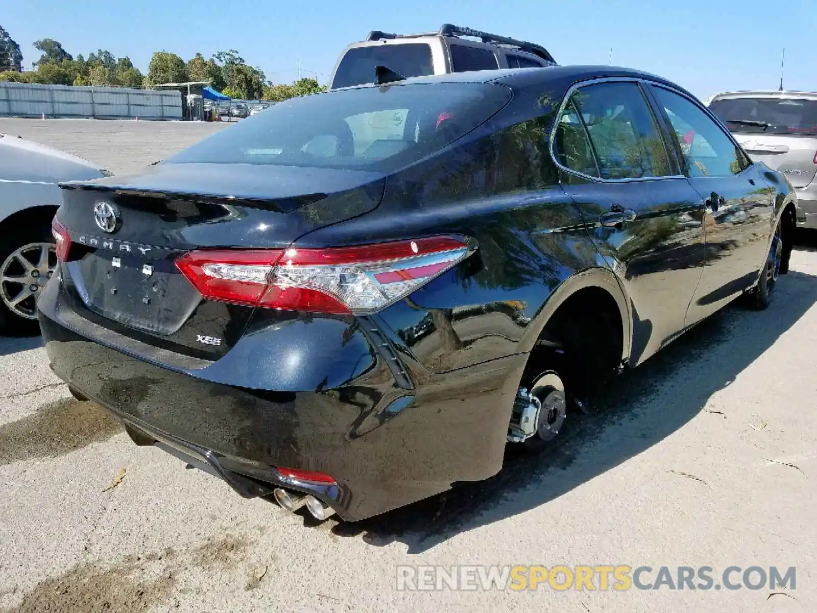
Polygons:
M636 80L574 87L556 125L563 189L631 301L630 362L684 328L703 266L703 200Z

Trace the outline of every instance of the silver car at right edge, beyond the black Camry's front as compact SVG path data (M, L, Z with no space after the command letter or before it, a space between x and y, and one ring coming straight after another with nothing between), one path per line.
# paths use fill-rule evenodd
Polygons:
M797 226L817 228L817 92L724 92L709 108L752 159L797 192Z

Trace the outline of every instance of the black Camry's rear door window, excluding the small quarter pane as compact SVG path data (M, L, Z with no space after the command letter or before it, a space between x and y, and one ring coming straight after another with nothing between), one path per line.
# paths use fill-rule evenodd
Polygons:
M658 125L636 83L582 87L573 103L587 126L602 179L673 174Z

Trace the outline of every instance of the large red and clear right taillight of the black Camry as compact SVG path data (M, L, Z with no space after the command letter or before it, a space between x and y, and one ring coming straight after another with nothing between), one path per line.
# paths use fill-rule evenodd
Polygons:
M176 261L205 298L319 313L378 311L472 251L450 236L325 249L194 251Z

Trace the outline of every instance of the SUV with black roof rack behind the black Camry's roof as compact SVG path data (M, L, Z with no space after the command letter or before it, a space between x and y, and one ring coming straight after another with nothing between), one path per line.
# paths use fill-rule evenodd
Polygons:
M377 66L404 77L500 68L555 66L541 45L444 24L430 34L387 34L374 30L341 54L332 88L373 83Z

